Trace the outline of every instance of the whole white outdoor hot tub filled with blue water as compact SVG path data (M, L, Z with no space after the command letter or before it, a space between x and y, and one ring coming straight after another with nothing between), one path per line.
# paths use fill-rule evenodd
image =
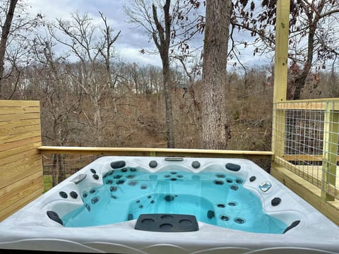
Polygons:
M339 230L247 159L109 156L1 222L1 249L339 253Z

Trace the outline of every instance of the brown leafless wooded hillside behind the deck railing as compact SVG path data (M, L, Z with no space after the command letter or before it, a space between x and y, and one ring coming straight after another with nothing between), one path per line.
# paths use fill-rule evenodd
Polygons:
M78 83L83 78L78 63L51 68L26 68L25 87L13 99L40 100L43 145L97 147L166 147L165 109L161 68L117 63L117 82L108 87L96 82L100 96L93 102ZM100 66L97 66L100 68ZM270 150L273 111L272 66L252 68L246 76L228 73L227 102L232 126L230 150ZM174 133L178 148L198 148L196 135L201 80L194 85L179 70L172 70ZM339 97L333 86L338 75L313 74L302 99ZM10 82L11 80L8 80ZM15 81L15 80L13 80ZM338 84L338 83L337 83ZM95 113L95 111L97 112Z

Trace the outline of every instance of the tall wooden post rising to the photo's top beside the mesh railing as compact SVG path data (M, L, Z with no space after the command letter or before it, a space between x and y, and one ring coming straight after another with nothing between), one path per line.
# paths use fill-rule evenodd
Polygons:
M285 111L277 110L277 102L284 102L287 93L288 29L290 25L290 1L278 0L275 25L275 63L273 89L272 152L283 157L285 148ZM273 159L274 159L273 157Z

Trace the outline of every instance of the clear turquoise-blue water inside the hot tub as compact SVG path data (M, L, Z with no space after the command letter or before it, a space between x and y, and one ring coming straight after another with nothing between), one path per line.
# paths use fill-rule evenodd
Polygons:
M83 190L84 205L62 217L64 226L100 226L140 214L191 214L207 224L282 234L286 224L263 212L261 201L232 174L126 167L107 172L103 185Z

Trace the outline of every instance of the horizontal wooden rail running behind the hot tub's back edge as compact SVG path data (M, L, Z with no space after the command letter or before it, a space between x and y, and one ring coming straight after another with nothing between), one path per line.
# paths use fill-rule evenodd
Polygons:
M270 151L239 150L203 150L177 148L139 148L139 147L57 147L40 146L42 154L86 154L86 155L119 155L119 156L176 156L176 157L227 157L248 159L270 159Z

